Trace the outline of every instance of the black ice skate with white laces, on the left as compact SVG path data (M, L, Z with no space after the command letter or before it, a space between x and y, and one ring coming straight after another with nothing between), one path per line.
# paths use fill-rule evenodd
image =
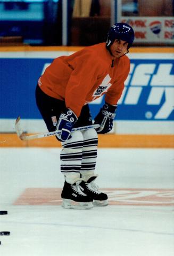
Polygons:
M85 210L93 207L93 198L84 193L84 189L81 187L81 181L82 179L78 179L73 184L65 181L61 193L63 208Z

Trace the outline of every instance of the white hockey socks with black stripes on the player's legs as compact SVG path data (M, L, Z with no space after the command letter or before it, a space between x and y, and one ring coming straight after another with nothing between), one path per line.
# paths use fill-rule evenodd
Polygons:
M74 131L72 138L62 142L61 172L81 173L95 170L98 136L95 129Z

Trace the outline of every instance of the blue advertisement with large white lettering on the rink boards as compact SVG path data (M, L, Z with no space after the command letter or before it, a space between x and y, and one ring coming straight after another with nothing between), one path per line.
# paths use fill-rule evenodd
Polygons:
M37 52L36 52L37 55ZM53 59L1 58L0 118L41 119L35 103L40 74ZM104 97L90 103L93 118ZM125 90L119 100L117 120L174 120L173 59L131 59Z

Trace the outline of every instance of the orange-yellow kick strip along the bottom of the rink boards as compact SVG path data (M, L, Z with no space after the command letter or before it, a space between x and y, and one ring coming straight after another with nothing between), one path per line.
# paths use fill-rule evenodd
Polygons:
M0 134L0 146L4 147L59 147L60 142L53 137L21 141L16 134ZM99 148L174 148L174 136L140 134L98 135Z

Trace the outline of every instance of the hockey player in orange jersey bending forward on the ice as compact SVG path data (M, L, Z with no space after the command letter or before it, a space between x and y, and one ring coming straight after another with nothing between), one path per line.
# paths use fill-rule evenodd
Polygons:
M56 58L39 78L39 111L49 131L62 131L56 136L62 144L61 172L65 182L61 196L65 208L107 205L107 195L94 183L97 133L112 129L130 69L126 53L133 41L134 30L128 24L117 23L110 28L106 43ZM104 94L105 104L94 122L100 127L71 133L74 127L93 124L88 103Z

